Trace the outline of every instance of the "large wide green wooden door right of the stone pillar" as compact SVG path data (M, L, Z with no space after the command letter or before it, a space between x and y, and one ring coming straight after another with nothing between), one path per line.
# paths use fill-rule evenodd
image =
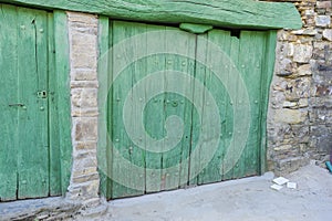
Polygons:
M261 172L273 33L107 23L100 161L108 199Z

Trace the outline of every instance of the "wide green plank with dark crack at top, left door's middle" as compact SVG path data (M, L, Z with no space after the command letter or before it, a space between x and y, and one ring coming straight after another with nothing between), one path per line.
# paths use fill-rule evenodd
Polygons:
M40 32L46 30L48 14L23 8L18 14L19 98L27 107L19 113L19 199L25 199L49 194L48 109L37 96L40 85L48 85L48 62L39 61L39 54L48 54L48 39Z

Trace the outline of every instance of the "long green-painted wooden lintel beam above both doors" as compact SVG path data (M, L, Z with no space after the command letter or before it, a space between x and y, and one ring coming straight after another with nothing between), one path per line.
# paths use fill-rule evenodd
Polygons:
M98 13L116 19L165 23L201 23L215 27L256 29L300 29L302 21L295 7L284 2L253 0L1 0L48 9Z

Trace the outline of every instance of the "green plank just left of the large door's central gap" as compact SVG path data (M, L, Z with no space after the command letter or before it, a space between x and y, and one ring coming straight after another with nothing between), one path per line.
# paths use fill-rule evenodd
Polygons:
M179 33L176 39L172 31ZM167 120L175 116L178 118L168 125L169 130L163 150L162 190L172 190L188 181L194 96L193 78L195 75L193 57L195 57L196 35L179 32L175 28L166 28L165 36L165 49L173 52L173 54L165 55L165 117ZM172 71L177 72L176 77ZM188 76L184 77L183 75ZM172 146L174 144L175 146Z

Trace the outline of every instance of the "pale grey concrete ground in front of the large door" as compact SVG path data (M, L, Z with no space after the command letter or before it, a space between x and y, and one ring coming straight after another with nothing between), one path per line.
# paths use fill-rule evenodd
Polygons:
M272 190L272 173L108 202L94 220L114 221L328 221L332 175L314 165L287 176L298 189ZM76 220L91 220L76 218Z

